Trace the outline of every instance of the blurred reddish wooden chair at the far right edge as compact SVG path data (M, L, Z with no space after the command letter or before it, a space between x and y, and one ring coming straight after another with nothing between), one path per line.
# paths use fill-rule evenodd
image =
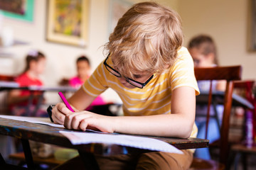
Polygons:
M248 126L248 120L246 117L248 117L248 115L246 114L254 114L256 113L256 99L252 94L252 89L254 87L255 81L249 80L249 81L235 81L234 84L234 88L235 89L242 89L244 97L247 98L247 100L252 104L253 108L248 108L245 107L245 123L244 123L244 132L246 131L246 126ZM248 112L250 111L250 112ZM245 132L243 140L235 143L234 145L231 145L230 147L230 152L231 152L231 157L230 157L230 164L229 167L231 166L231 164L234 164L234 169L238 168L238 162L240 160L240 158L242 158L242 166L243 169L247 169L247 156L249 154L256 154L256 147L252 145L252 143L248 143L248 139L247 137L250 136L246 136L247 132ZM252 136L251 136L252 137ZM251 140L253 141L253 139L251 138ZM251 142L252 142L251 141Z

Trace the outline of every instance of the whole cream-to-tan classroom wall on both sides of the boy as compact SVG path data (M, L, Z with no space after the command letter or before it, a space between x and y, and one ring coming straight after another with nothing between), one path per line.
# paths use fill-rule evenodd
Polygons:
M75 60L78 55L90 57L92 69L97 67L104 56L102 45L107 42L109 9L111 0L90 0L89 43L87 47L74 47L46 41L46 5L47 1L35 0L33 22L4 18L0 28L9 27L14 31L14 38L28 42L27 45L14 45L0 48L1 52L11 53L14 61L8 69L1 69L0 74L18 74L24 68L24 57L28 50L35 48L45 52L47 68L42 79L47 86L55 86L63 77L75 75ZM122 1L122 0L120 0ZM139 2L139 0L131 0ZM160 4L171 6L180 13L185 35L184 45L193 35L208 33L218 46L221 65L242 64L243 79L256 79L256 53L247 51L247 16L250 0L158 0ZM10 64L6 57L0 56L0 62ZM1 64L0 63L0 64ZM103 97L107 101L120 102L111 90ZM49 103L55 103L57 96L46 94Z

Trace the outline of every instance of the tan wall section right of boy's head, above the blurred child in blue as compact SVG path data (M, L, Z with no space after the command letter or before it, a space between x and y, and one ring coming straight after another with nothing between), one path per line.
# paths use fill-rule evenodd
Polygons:
M180 0L187 45L194 35L211 35L218 47L220 65L242 65L242 79L256 79L256 52L249 52L248 18L250 0Z

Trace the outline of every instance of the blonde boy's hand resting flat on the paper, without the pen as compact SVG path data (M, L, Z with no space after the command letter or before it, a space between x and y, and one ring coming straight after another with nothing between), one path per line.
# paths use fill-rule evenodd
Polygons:
M114 132L113 117L99 115L89 111L75 112L65 116L64 126L68 129L100 130L102 132Z

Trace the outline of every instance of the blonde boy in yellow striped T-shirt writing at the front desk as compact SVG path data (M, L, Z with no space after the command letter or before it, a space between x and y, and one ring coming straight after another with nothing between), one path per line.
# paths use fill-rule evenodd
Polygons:
M194 119L199 91L193 60L181 47L182 42L176 12L154 2L134 4L110 35L105 45L106 60L68 100L76 112L71 113L58 103L53 108L54 122L75 130L196 137ZM83 111L107 88L119 94L125 116ZM96 155L96 159L100 169L188 169L193 153L183 150L183 154L151 152L139 157Z

